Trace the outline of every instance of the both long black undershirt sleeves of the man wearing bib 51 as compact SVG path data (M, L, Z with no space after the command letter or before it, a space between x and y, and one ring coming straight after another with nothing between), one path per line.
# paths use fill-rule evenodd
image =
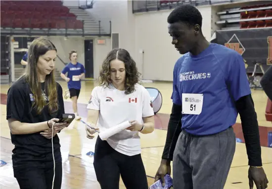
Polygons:
M259 126L251 94L241 97L235 102L235 105L241 118L242 130L248 155L248 164L250 166L262 166ZM163 159L173 160L173 153L180 133L181 106L173 104L172 113L168 123L166 144L162 155Z

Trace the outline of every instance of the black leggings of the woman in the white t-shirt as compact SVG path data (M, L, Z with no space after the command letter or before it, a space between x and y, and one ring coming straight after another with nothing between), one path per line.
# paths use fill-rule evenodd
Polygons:
M119 189L120 175L127 189L148 189L141 155L119 153L99 137L95 144L93 166L101 189Z

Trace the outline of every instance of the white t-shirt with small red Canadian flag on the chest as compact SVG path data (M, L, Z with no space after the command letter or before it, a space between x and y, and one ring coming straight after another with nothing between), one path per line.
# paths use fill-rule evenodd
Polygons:
M135 89L126 95L125 91L116 89L112 84L94 87L87 109L99 110L96 126L101 132L127 120L142 123L142 117L154 115L148 91L140 84L136 84ZM114 150L125 155L141 152L138 131L123 130L109 137L107 142Z

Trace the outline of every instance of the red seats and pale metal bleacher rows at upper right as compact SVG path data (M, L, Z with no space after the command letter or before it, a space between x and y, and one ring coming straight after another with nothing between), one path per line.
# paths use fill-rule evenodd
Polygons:
M235 26L236 23L238 24L237 29L272 27L272 4L259 4L233 8L232 10L218 12L217 15L224 19L217 21L216 23L224 24L225 27ZM227 28L228 27L224 29Z

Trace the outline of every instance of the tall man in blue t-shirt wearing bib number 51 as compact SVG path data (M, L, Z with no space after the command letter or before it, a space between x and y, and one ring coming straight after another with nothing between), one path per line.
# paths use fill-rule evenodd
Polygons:
M182 5L168 16L172 44L183 54L173 72L173 107L155 181L171 174L174 189L223 189L235 151L232 126L240 114L250 189L267 188L257 115L242 56L202 34L197 8ZM182 125L182 126L181 126Z

